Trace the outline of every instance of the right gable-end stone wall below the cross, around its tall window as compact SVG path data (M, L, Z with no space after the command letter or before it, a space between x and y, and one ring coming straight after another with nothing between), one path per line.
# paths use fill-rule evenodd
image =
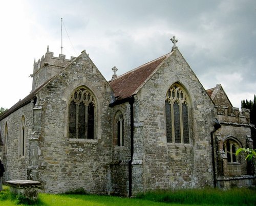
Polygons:
M165 95L179 82L189 95L190 144L166 142ZM199 188L213 185L210 132L214 119L205 89L179 51L164 61L135 99L134 159L142 160L143 190ZM138 166L139 167L139 166ZM136 175L135 173L133 175ZM141 188L133 188L141 191Z

